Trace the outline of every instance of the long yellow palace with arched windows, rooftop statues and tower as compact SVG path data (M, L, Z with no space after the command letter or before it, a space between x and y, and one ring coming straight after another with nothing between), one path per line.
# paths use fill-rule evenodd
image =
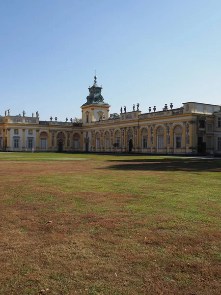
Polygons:
M185 102L142 114L122 109L119 118L101 95L102 87L89 86L81 106L82 122L41 121L36 117L0 116L0 151L129 152L151 154L221 154L221 106ZM111 117L110 117L111 116Z

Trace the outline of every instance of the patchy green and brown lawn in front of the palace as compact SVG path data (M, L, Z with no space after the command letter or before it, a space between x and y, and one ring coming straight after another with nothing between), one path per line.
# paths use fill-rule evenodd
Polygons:
M5 152L0 167L0 294L221 294L220 159Z

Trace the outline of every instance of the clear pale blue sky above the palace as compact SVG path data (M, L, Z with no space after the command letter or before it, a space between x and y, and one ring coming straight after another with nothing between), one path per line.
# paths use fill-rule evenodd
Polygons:
M220 0L0 1L0 115L81 117L97 74L111 113L221 104Z

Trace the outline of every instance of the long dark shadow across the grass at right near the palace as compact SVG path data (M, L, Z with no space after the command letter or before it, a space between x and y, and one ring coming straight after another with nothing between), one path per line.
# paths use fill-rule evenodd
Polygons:
M221 172L221 161L214 159L125 159L107 162L113 164L107 167L112 170Z

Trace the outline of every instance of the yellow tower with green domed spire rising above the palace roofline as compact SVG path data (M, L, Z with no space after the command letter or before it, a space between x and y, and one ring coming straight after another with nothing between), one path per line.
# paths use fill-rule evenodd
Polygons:
M102 85L97 85L97 76L94 76L94 84L88 87L87 101L81 106L83 124L109 118L110 105L104 101L101 95Z

